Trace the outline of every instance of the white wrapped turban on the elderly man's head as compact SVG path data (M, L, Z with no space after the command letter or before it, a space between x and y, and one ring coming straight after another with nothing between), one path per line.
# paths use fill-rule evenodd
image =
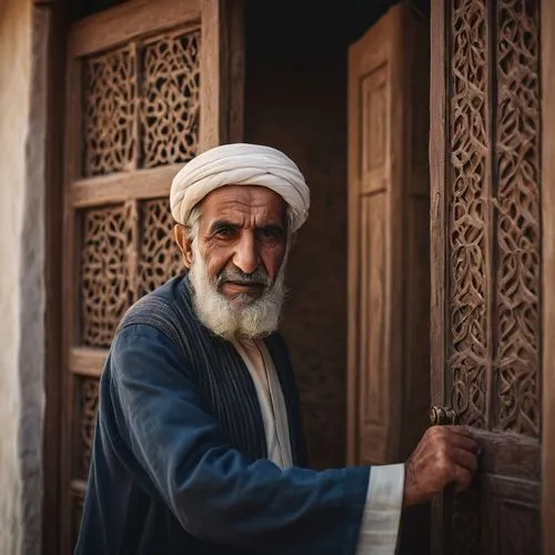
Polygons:
M270 147L234 143L199 154L173 178L170 206L175 221L186 223L193 208L224 185L260 185L278 193L291 209L292 232L309 216L310 191L290 158Z

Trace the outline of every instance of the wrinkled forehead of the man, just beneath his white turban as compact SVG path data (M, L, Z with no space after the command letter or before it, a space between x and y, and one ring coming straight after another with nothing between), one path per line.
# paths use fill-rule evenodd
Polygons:
M225 185L201 203L203 220L222 219L242 225L285 224L286 203L274 191L258 185Z

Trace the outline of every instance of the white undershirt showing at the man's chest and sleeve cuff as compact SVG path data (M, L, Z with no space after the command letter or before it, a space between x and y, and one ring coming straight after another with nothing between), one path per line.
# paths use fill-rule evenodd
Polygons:
M233 345L254 382L266 435L268 458L280 468L292 466L287 411L272 357L260 340L235 341ZM404 483L404 464L372 466L356 555L395 554Z

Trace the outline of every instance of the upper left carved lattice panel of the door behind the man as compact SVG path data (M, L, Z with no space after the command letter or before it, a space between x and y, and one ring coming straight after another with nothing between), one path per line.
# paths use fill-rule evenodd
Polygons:
M122 171L133 161L134 71L130 47L84 60L83 176Z

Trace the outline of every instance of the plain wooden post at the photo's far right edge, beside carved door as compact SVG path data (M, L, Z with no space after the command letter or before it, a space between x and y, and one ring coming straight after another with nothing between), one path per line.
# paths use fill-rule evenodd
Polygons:
M555 553L555 2L542 0L542 216L543 216L543 431L542 517L544 553Z

